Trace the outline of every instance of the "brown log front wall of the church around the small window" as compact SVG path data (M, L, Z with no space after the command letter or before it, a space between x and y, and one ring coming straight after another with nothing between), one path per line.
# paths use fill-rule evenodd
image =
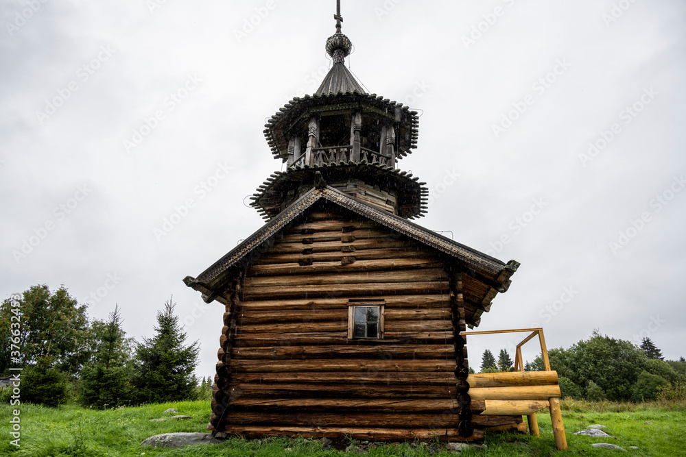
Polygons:
M482 439L458 287L421 243L342 210L311 212L224 293L210 430ZM348 305L365 300L384 305L383 338L348 339Z

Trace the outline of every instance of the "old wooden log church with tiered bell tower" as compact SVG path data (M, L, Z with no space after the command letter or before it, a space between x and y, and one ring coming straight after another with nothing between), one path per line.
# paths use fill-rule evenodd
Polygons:
M416 147L417 113L362 88L344 64L352 45L340 1L335 19L321 86L265 125L287 164L252 197L268 222L184 280L226 309L209 430L469 441L521 425L550 388L559 397L556 374L474 378L461 335L519 263L410 221L428 191L397 164ZM512 395L527 382L554 386ZM494 388L510 391L489 412L484 391Z

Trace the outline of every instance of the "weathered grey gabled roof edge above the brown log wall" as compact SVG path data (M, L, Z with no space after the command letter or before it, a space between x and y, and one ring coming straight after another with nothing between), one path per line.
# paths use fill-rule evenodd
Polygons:
M187 286L202 292L204 295L215 295L217 288L223 284L226 275L230 269L234 267L244 267L247 261L252 258L251 255L263 247L265 244L273 239L283 228L294 221L300 214L303 214L307 208L310 208L314 203L320 199L326 199L332 203L338 204L342 208L351 210L356 214L367 217L371 221L375 221L390 230L399 232L414 240L434 247L449 256L456 258L473 269L478 269L497 277L499 284L505 284L510 275L519 267L518 262L511 260L505 264L501 260L490 257L480 251L472 249L471 247L456 243L455 241L446 238L431 230L427 230L421 225L417 225L394 214L390 214L383 210L373 208L368 204L349 197L344 193L339 192L331 187L313 188L308 193L294 201L288 208L283 210L279 216L275 217L266 223L257 232L250 235L237 247L228 252L225 256L217 260L211 267L200 273L197 278L187 277L184 282Z

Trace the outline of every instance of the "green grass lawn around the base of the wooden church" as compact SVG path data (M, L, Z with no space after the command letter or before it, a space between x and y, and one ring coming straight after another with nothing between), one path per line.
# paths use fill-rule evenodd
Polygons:
M12 410L0 406L0 455L12 457L58 456L345 456L343 451L322 451L317 440L272 438L257 441L230 439L220 445L199 445L181 449L141 447L149 436L168 432L204 432L209 420L209 402L179 402L90 410L75 405L45 408L23 404L21 409L21 447L9 443L7 433ZM193 416L188 421L152 422L163 417L167 408L176 408L179 415ZM565 456L610 456L617 451L591 447L591 443L613 443L635 456L686 456L686 404L652 403L622 404L613 402L563 401L563 414L569 450ZM550 456L556 454L550 417L538 415L541 436L525 434L487 433L488 450L471 449L461 456ZM652 424L646 424L646 421ZM611 438L591 438L573 432L587 425L601 423ZM435 448L430 448L436 446ZM639 447L638 450L630 446ZM432 454L436 450L437 454ZM440 450L441 445L429 443L390 444L370 449L370 457L455 456Z

